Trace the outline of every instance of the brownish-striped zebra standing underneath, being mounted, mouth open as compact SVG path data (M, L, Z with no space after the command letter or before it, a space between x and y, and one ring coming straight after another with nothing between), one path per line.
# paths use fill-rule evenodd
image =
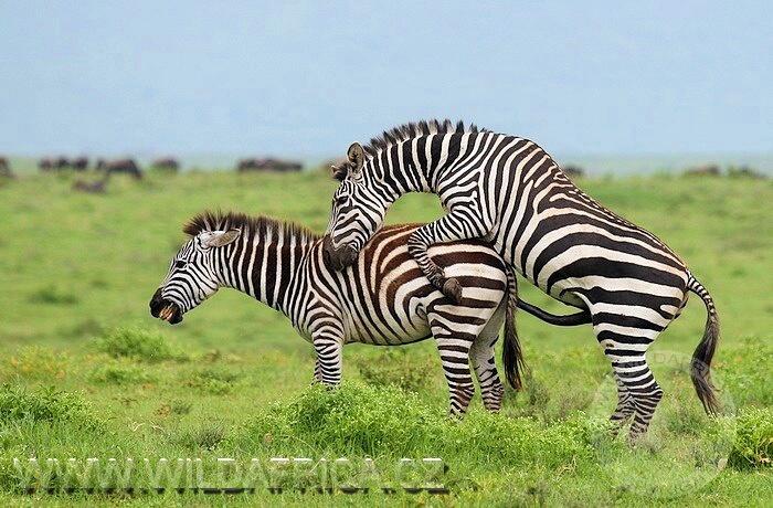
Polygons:
M382 229L351 267L337 272L328 266L324 240L303 226L204 212L184 226L190 239L150 299L150 314L178 324L220 287L237 289L290 319L315 348L314 379L331 387L341 381L345 343L398 346L432 337L448 384L449 413L464 415L473 398L470 362L485 408L497 412L504 387L494 353L502 321L502 359L516 388L523 366L513 320L515 277L478 241L434 245L431 255L466 285L465 298L449 301L407 252L407 237L417 227Z

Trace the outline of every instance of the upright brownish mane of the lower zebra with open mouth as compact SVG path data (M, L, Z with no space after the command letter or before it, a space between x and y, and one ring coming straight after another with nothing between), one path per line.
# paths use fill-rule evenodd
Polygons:
M243 234L264 237L272 236L296 237L300 242L311 242L320 236L306 226L295 222L279 221L264 215L247 215L240 212L212 212L207 210L191 218L182 227L182 232L195 236L204 231L222 231L230 229L242 230Z

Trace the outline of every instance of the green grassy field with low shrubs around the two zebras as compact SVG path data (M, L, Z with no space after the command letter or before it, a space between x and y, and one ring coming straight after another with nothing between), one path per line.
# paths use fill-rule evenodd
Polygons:
M434 345L345 349L345 385L309 388L311 348L286 318L223 290L170 327L148 300L203 209L327 224L335 182L292 176L186 173L117 178L75 194L70 176L0 181L0 502L772 506L773 223L770 180L648 177L584 180L608 208L664 239L711 290L722 318L716 378L727 414L703 415L685 370L705 308L691 298L650 350L666 391L636 448L608 436L608 363L590 328L519 316L531 367L499 415L479 399L445 419ZM390 222L440 214L410 195ZM532 287L521 296L568 309ZM24 494L13 458L124 461L372 457L394 483L401 457L441 457L451 494ZM209 476L208 476L209 477ZM59 484L56 481L60 481ZM60 476L52 485L66 484Z

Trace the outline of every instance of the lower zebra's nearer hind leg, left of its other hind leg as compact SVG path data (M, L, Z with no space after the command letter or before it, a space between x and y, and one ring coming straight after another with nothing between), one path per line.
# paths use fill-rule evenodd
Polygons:
M431 328L441 356L443 373L448 383L448 414L464 416L475 394L469 371L469 349L474 338L459 337L459 334L453 335L454 332L440 320L435 320Z

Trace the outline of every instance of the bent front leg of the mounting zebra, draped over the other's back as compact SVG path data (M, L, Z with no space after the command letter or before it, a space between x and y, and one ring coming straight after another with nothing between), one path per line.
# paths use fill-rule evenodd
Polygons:
M422 268L426 278L454 304L462 301L462 285L455 278L446 278L427 253L430 245L457 240L477 239L488 234L491 221L485 220L475 210L454 208L448 214L424 224L407 240L407 251Z

